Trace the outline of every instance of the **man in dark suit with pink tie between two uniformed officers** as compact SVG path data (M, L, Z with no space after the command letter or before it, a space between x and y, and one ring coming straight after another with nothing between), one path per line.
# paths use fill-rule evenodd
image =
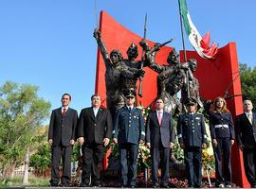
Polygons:
M146 145L151 149L153 187L159 187L158 163L161 160L161 186L168 187L170 148L174 147L174 121L170 113L164 112L161 98L155 100L156 111L147 118Z

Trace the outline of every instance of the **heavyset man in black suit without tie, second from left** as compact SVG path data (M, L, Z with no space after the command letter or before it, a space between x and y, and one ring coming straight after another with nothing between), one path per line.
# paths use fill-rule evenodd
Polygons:
M101 187L101 163L104 146L112 136L113 123L108 110L101 108L101 96L91 96L92 107L82 109L78 141L82 145L82 187Z

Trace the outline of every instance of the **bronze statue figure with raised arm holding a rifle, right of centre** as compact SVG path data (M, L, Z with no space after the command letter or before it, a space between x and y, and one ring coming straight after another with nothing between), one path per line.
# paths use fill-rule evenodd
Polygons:
M159 65L155 62L155 51L160 49L159 43L155 44L155 51L149 50L147 43L140 43L146 51L146 61L149 67L158 73L157 76L157 96L164 100L165 111L170 113L180 112L180 102L177 93L183 88L186 82L186 74L183 65L179 63L179 54L175 51L170 52L167 62L168 65ZM158 47L157 47L158 45Z

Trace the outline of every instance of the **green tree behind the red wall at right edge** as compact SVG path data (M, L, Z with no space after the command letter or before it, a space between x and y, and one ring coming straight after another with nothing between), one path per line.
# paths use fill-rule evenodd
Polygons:
M239 64L243 99L250 99L256 106L256 67L250 68L245 63Z

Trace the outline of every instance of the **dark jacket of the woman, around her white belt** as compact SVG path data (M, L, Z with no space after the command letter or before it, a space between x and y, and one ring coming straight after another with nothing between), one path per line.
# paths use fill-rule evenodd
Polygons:
M230 138L235 139L234 124L230 113L210 112L210 136L211 139ZM229 128L215 128L215 125L228 125Z

